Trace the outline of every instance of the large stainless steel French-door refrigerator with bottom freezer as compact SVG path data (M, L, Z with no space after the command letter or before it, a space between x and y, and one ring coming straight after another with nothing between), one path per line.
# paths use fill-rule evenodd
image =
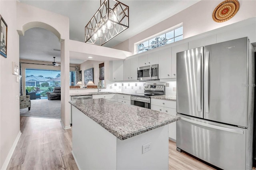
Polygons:
M177 53L177 150L251 170L254 86L247 37Z

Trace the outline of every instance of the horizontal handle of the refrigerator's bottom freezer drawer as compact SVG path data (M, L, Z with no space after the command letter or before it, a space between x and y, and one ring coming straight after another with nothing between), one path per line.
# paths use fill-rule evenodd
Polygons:
M204 126L204 127L214 128L214 129L218 129L218 130L224 130L224 131L227 131L227 132L233 132L233 133L238 133L238 134L244 134L243 130L220 127L220 126L216 126L216 125L211 125L211 124L207 124L207 123L203 123L203 122L194 121L194 120L187 119L187 118L184 118L184 117L181 117L181 120L187 121L187 122L190 122L190 123L193 123L193 124L196 124L196 125L201 125L201 126Z

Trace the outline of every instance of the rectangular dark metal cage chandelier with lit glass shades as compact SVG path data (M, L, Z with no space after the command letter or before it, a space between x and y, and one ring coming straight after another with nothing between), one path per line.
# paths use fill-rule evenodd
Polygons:
M117 0L105 0L85 26L85 42L103 45L129 28L129 7Z

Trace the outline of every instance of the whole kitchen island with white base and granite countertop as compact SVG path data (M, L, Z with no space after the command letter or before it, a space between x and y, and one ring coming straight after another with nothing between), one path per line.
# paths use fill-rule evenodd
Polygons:
M79 169L168 169L168 124L180 117L106 99L70 103Z

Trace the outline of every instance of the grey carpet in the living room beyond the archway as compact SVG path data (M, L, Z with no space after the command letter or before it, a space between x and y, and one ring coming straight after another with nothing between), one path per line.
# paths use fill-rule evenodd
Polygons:
M60 119L60 100L31 100L31 108L20 109L20 116Z

